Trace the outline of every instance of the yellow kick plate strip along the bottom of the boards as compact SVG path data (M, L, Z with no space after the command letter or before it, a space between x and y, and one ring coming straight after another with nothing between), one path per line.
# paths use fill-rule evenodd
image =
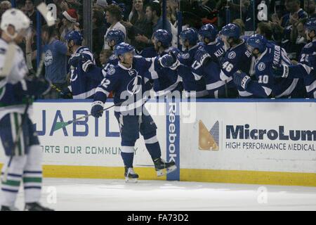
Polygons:
M0 169L2 164L0 164ZM143 180L166 180L157 177L153 167L136 167ZM44 177L81 179L124 179L124 167L92 167L44 165ZM180 181L265 184L284 186L315 186L316 174L298 172L261 172L244 170L180 169Z

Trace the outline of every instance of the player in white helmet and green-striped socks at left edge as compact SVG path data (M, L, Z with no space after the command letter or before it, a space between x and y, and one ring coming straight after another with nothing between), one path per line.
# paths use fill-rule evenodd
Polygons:
M32 96L46 94L50 82L44 78L27 77L20 44L29 27L29 18L12 8L1 18L0 68L5 65L9 43L13 44L14 56L8 77L0 86L0 139L5 150L5 162L1 172L1 211L18 210L15 200L22 183L25 195L25 210L50 211L41 206L42 150L29 119L27 104ZM9 53L8 53L9 54Z

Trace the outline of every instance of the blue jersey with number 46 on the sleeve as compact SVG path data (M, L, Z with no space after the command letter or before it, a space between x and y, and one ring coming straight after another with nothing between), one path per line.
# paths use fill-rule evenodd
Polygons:
M250 74L251 68L251 53L246 48L246 41L242 39L241 43L236 46L231 47L225 53L225 56L220 60L222 68L220 70L220 79L226 82L228 89L236 88L238 89L239 96L250 97L252 94L237 88L232 82L232 75L234 75L237 70L242 70L246 74Z

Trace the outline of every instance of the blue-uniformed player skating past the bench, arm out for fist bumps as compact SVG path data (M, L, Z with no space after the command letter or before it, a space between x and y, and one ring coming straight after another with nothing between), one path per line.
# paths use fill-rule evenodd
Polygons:
M157 175L173 172L176 169L175 162L164 162L161 159L157 127L144 106L143 96L149 81L145 74L148 71L152 72L156 60L134 56L133 46L124 42L115 46L114 53L119 58L119 63L107 72L107 76L98 86L91 114L93 117L103 115L103 105L110 91L113 91L116 105L114 115L121 131L121 158L124 162L124 176L127 182L138 180L138 174L133 170L133 155L139 133L144 137L145 146L152 157Z

